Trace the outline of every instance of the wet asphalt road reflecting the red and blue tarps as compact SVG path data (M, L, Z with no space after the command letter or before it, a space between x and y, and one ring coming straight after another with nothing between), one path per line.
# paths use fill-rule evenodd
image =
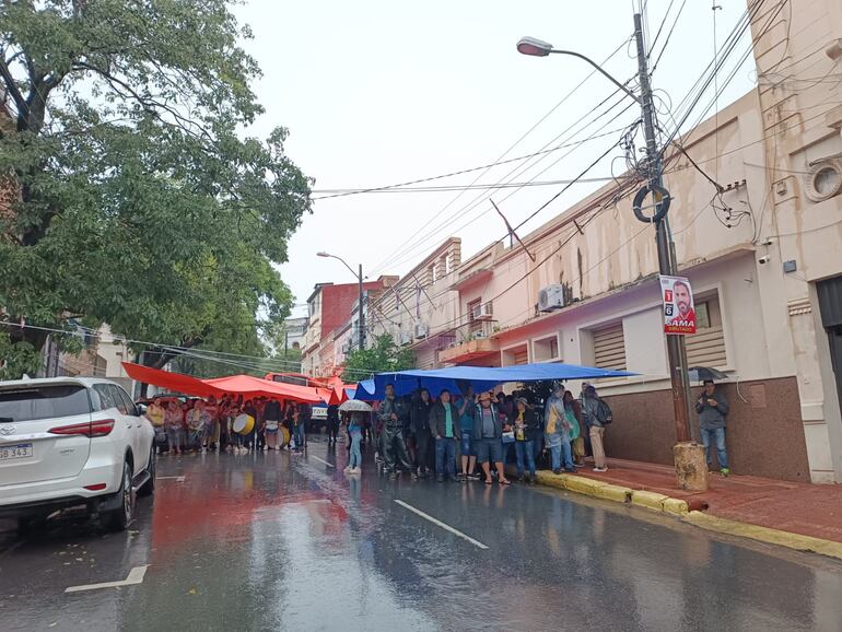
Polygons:
M346 463L316 441L161 457L127 534L72 515L0 534L0 630L842 630L833 561L554 490L393 482L371 463L349 478ZM145 564L139 585L65 593Z

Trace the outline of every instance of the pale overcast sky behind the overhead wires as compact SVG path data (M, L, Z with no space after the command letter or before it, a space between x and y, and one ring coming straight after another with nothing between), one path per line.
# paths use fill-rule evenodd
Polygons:
M633 43L622 46L632 35L636 4L632 0L250 0L237 8L237 14L255 34L245 47L262 68L264 78L255 89L267 112L249 133L266 136L278 125L289 128L288 154L315 178L315 191L378 187L493 163L568 97L505 157L607 136L542 154L540 162L538 157L511 162L484 174L471 172L418 186L465 186L477 176L482 176L479 183L572 179L617 143L621 132L613 130L633 122L639 110L619 96L597 109L613 90L600 75L590 77L570 95L590 73L588 66L565 56L524 57L515 44L531 35L597 61L620 47L605 68L625 81L636 71ZM650 42L669 4L648 0ZM673 2L653 62L681 4L682 0ZM716 34L722 44L744 13L746 0L717 0L717 4L722 9L716 11ZM744 38L735 60L749 43ZM658 93L664 126L671 128L665 106L671 101L677 109L713 51L711 2L689 0L653 77L654 87L664 91ZM753 86L753 70L749 58L720 107ZM713 91L709 94L712 97ZM618 105L596 119L613 103ZM620 114L628 105L632 107ZM615 119L616 115L620 116ZM690 120L694 119L695 115ZM619 149L588 177L610 176L611 157L617 155ZM616 174L622 173L621 160L613 166ZM515 168L521 171L510 173ZM524 230L550 220L600 185L574 185ZM371 278L408 271L451 235L461 237L465 259L505 234L489 197L518 224L562 186L319 200L290 243L283 279L296 302L303 303L317 282L354 280L339 261L317 258L318 250L341 256L353 268L362 264ZM323 195L314 192L314 198Z

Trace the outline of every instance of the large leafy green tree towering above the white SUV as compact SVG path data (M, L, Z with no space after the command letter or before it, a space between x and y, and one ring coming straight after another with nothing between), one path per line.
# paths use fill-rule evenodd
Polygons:
M0 5L0 321L31 364L70 318L246 353L288 314L272 262L309 212L288 132L244 136L259 77L225 0ZM7 364L9 372L14 367ZM20 372L20 371L19 371Z

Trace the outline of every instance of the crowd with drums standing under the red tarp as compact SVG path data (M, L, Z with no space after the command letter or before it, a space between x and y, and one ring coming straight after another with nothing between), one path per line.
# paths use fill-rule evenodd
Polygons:
M284 448L300 453L306 445L309 414L307 405L290 402L284 408L278 399L242 396L186 401L155 397L145 411L159 453L171 455Z

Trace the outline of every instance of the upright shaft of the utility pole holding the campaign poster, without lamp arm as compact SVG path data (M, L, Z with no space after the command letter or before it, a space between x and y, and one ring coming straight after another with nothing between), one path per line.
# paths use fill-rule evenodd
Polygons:
M643 25L640 13L634 14L634 39L638 45L638 81L641 86L640 104L643 110L643 133L646 139L646 163L648 168L648 185L655 200L655 216L659 215L663 198L657 191L664 190L663 163L660 151L655 138L655 104L650 84L650 71L646 49L643 45ZM666 202L667 204L669 202ZM639 218L640 219L640 218ZM644 221L651 221L645 218ZM658 251L658 269L662 274L675 276L675 245L671 243L669 219L666 210L663 216L655 220L655 241ZM683 336L667 336L667 361L669 362L669 378L673 385L673 408L675 411L676 440L678 443L690 441L690 389L687 375L687 351Z

